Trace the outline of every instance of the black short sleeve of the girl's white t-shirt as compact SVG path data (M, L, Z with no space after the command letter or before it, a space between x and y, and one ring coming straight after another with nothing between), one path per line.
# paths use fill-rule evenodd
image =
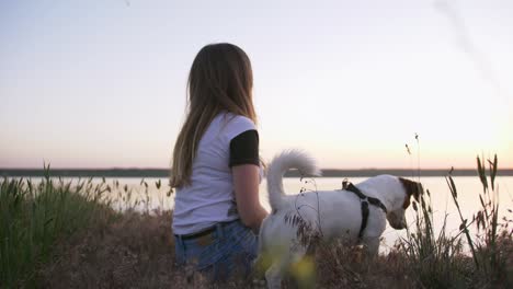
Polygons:
M259 158L259 132L254 129L232 138L230 141L230 162L229 166L241 164L260 165Z

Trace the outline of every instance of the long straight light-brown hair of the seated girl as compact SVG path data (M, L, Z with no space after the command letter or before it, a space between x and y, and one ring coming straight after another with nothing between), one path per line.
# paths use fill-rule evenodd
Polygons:
M256 123L252 88L251 62L238 46L210 44L197 53L189 73L185 123L174 143L171 187L191 183L197 146L216 115L229 112Z

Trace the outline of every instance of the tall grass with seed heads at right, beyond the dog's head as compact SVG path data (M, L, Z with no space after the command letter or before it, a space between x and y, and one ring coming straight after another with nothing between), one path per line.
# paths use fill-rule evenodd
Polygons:
M399 244L410 268L425 288L508 288L513 286L513 243L511 220L505 217L499 222L499 192L495 186L497 155L488 161L487 173L483 162L477 158L478 177L483 186L479 195L481 209L468 222L458 203L458 192L449 171L446 181L461 223L459 232L446 235L446 218L441 232L433 230L431 194L421 196L415 210L415 231ZM489 175L489 178L487 178ZM511 212L511 210L510 210ZM446 216L447 217L447 216ZM478 233L471 235L468 228L476 226ZM465 236L465 238L464 238ZM469 254L464 254L464 241Z

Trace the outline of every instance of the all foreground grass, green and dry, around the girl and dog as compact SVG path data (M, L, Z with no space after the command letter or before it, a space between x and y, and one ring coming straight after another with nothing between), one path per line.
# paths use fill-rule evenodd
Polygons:
M320 288L512 288L511 220L500 220L495 185L497 159L486 172L474 216L459 211L455 235L433 226L429 190L414 203L415 222L408 236L387 255L367 261L362 248L320 244L315 255L290 270L285 288L317 284ZM171 211L151 211L148 189L136 196L128 186L91 178L64 182L50 177L0 182L0 288L262 288L262 281L232 279L210 284L174 264ZM488 177L487 177L488 176ZM458 192L447 176L457 208ZM160 182L155 187L162 192ZM117 193L122 204L111 203ZM124 206L125 205L125 206ZM502 205L502 204L501 204ZM126 208L128 207L128 208ZM122 210L123 208L123 210ZM138 209L137 209L138 208ZM471 218L471 221L467 221ZM468 228L476 226L471 235ZM465 250L465 247L471 247ZM296 279L298 281L293 281Z

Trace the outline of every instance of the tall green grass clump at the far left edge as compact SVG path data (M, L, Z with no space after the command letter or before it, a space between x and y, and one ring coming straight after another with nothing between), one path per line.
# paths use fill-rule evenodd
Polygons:
M104 217L100 211L103 186L89 182L77 186L56 182L45 167L42 182L31 180L0 181L0 287L33 287L36 271L48 263L58 240Z

